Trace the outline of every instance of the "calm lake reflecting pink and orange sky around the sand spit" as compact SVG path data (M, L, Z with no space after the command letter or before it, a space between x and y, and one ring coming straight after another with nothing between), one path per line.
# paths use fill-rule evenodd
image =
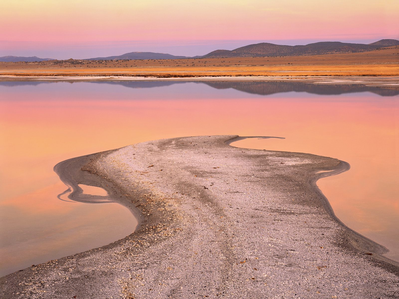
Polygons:
M0 276L134 231L134 217L117 203L58 199L66 189L53 172L58 162L148 140L219 134L284 137L232 145L350 163L318 185L338 218L399 261L398 87L0 82L0 111Z

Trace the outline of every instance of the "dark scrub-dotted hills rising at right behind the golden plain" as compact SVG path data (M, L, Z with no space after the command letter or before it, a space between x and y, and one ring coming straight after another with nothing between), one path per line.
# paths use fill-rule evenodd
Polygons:
M274 43L255 43L234 50L212 51L202 58L216 57L248 57L248 56L292 56L292 55L320 55L334 53L356 53L371 51L381 47L399 45L396 39L381 39L375 43L342 43L340 41L321 41L308 45L276 45Z

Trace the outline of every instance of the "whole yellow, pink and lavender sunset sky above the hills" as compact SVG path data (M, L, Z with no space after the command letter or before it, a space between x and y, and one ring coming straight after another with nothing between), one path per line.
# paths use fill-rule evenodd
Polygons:
M398 0L2 0L0 56L204 55L259 42L399 39Z

